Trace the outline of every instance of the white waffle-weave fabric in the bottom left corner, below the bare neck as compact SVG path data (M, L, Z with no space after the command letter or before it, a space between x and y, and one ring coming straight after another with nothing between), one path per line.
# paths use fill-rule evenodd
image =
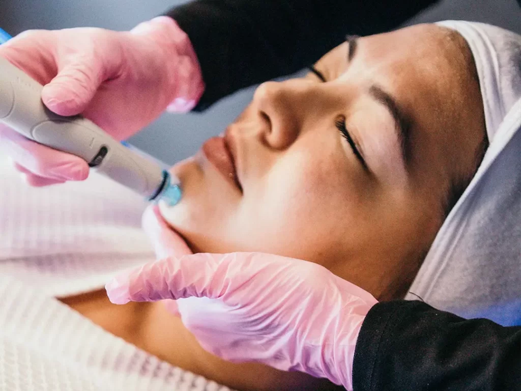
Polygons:
M229 391L104 331L0 275L0 390Z

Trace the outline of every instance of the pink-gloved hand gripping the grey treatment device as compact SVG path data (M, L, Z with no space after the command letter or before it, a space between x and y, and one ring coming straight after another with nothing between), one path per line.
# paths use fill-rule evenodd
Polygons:
M166 16L126 32L27 31L1 45L0 56L45 86L42 100L51 111L81 113L118 140L132 136L165 108L190 110L204 91L188 36ZM2 125L0 150L35 186L82 180L89 174L80 158L36 144Z

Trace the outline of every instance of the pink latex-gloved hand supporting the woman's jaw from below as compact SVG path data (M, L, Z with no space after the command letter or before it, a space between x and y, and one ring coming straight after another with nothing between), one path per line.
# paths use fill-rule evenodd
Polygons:
M159 256L187 251L154 210L144 226ZM348 390L358 333L377 303L318 264L262 253L170 256L106 289L116 304L179 299L183 324L225 360L327 377Z

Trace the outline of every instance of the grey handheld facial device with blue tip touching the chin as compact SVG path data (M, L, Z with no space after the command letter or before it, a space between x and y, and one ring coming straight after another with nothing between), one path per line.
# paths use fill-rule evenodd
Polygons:
M81 157L98 173L148 201L164 200L173 206L181 200L179 180L157 161L133 152L86 118L49 111L41 100L42 88L0 57L0 123L28 139Z

